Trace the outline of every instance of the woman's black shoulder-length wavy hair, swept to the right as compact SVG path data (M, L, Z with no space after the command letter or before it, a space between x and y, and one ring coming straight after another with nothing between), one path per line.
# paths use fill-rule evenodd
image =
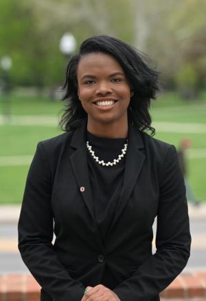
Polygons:
M159 72L148 66L148 56L133 46L106 35L85 40L80 45L78 54L73 56L67 65L62 100L67 99L68 103L60 119L62 129L65 131L75 129L80 126L83 119L87 118L87 112L84 111L78 98L77 68L82 56L93 52L109 54L122 66L134 93L128 106L128 121L139 130L149 130L154 135L155 128L151 127L152 118L149 108L151 100L156 98L159 90Z

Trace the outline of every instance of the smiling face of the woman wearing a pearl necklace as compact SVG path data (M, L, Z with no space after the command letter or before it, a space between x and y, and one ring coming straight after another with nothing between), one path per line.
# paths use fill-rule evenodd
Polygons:
M121 65L108 54L85 54L77 69L78 96L88 122L127 122L131 90Z

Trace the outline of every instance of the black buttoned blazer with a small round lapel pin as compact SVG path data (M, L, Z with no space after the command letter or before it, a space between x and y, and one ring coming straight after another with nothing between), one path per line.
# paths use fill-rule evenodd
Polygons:
M102 282L122 301L159 300L159 292L190 256L176 149L130 125L124 185L101 241L93 215L86 129L85 121L38 143L19 218L23 261L43 288L43 301L79 301L85 287ZM152 255L156 216L157 251Z

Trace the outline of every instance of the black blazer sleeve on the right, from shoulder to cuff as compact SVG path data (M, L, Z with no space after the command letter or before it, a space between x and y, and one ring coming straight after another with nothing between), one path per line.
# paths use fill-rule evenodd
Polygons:
M157 251L114 289L121 301L148 301L181 273L190 257L190 225L185 184L176 149L168 149L159 181Z

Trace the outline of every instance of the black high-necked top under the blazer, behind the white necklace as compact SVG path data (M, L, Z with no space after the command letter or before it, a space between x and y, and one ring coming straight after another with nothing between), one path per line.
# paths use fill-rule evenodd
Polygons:
M87 140L89 145L92 146L95 156L107 163L108 161L113 162L122 154L127 138L102 138L87 131ZM89 151L88 158L95 218L102 240L104 240L121 192L126 154L119 163L113 166L99 165ZM109 218L108 215L110 215Z

